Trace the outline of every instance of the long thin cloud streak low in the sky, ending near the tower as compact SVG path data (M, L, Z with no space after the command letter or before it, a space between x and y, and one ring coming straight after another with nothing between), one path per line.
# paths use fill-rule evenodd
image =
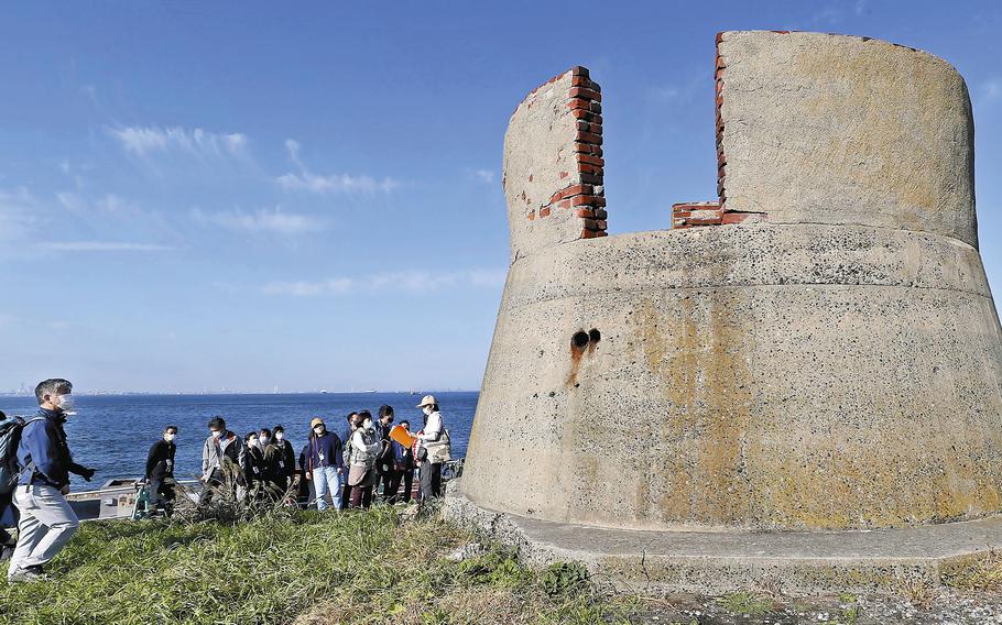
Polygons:
M400 271L361 278L338 277L322 281L273 282L261 287L265 295L312 297L342 295L355 292L402 290L435 292L457 287L499 287L504 284L502 270L468 270L460 272Z

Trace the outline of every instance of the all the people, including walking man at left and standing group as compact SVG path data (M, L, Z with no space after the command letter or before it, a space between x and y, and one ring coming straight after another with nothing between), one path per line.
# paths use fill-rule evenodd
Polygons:
M46 579L43 567L79 527L65 497L69 474L88 482L95 474L73 460L66 442L64 424L74 414L73 384L45 380L35 387L35 397L39 414L32 418L14 423L0 413L0 451L9 453L0 457L0 519L10 508L18 527L14 539L0 523L0 549L10 557L11 582ZM316 417L298 458L282 426L240 437L227 429L222 417L215 417L202 450L199 504L210 503L220 490L233 489L240 500L270 498L320 511L366 508L380 496L380 486L383 502L394 504L411 501L415 469L420 498L437 497L442 465L449 460L448 430L434 396L426 395L417 407L424 424L414 434L406 420L399 424L402 430L393 430L393 408L385 405L377 418L369 410L349 414L340 436ZM151 504L166 509L176 496L177 434L177 426L164 428L146 459L144 491Z

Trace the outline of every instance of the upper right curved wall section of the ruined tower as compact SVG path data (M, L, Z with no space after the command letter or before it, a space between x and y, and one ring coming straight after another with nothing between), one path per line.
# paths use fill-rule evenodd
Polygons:
M970 97L948 63L865 37L728 32L717 66L727 208L978 245Z

